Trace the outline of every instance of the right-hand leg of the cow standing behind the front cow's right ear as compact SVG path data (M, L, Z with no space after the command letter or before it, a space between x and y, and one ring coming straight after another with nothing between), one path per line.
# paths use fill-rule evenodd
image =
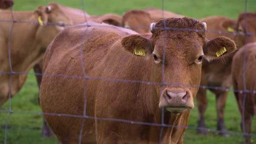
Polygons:
M218 116L217 130L220 131L219 135L224 137L229 137L228 131L224 123L224 110L225 110L227 95L228 95L228 92L226 91L222 91L221 93L218 93L216 95L216 99L217 99L216 109L217 109L217 116Z

